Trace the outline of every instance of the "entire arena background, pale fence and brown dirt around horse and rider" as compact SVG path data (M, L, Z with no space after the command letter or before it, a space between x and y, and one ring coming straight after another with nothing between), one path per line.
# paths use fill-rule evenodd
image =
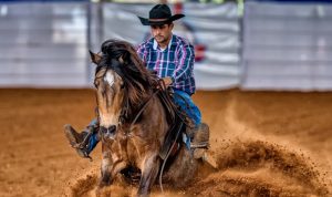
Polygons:
M95 196L101 145L80 158L63 125L95 117L89 50L149 38L159 2L186 14L219 168L152 196L331 196L332 0L0 0L0 196Z

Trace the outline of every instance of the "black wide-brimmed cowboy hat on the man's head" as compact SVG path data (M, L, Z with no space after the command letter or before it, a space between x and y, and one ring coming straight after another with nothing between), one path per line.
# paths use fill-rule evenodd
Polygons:
M148 13L148 19L138 17L143 25L160 25L168 22L178 20L185 17L185 14L174 14L172 15L170 9L167 4L156 4L151 9Z

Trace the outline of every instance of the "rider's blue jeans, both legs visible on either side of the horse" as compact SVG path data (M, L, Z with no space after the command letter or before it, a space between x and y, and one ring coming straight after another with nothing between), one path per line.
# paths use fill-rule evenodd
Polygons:
M201 122L201 114L199 108L194 104L191 97L189 94L187 94L184 91L179 91L174 89L174 102L179 105L179 107L186 112L186 114L194 121L195 126L197 127ZM89 125L95 125L96 118L92 120L92 122ZM90 139L89 139L89 146L87 146L87 155L94 149L94 147L100 142L97 137L97 132L94 132Z

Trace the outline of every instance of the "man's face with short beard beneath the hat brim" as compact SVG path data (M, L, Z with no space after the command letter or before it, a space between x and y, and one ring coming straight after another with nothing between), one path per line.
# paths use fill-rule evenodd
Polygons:
M160 24L160 25L151 25L151 32L158 44L167 44L173 30L174 24Z

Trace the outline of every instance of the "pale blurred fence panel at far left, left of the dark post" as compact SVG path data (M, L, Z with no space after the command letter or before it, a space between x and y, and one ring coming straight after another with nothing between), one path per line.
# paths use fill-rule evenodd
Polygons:
M0 86L86 86L87 3L0 3Z

